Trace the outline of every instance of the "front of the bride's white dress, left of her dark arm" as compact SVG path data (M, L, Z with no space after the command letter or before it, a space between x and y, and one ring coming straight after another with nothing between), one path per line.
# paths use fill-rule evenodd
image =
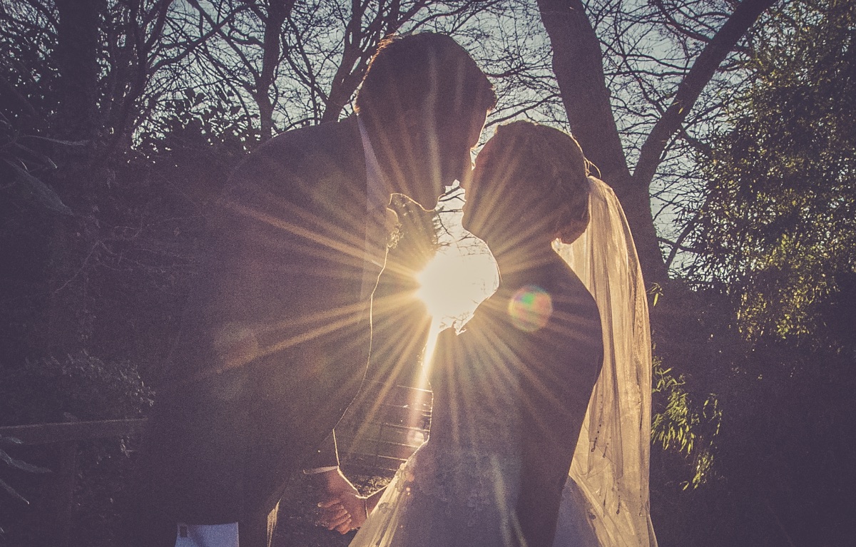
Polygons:
M473 321L483 317L477 312ZM383 492L352 546L475 547L510 545L520 455L517 379L501 362L467 352L447 330L437 341L430 381L431 437ZM450 342L446 343L446 342ZM448 351L447 351L448 350ZM458 366L456 366L458 365Z

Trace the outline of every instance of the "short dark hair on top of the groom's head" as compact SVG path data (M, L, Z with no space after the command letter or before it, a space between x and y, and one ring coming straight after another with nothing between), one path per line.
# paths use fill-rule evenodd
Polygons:
M377 46L355 110L375 123L396 122L408 110L430 108L426 100L431 95L441 120L484 116L496 104L490 80L454 39L396 34Z

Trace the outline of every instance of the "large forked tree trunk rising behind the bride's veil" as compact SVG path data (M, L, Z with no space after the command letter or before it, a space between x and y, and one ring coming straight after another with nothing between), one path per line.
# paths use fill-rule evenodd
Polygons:
M681 81L675 100L645 140L631 175L609 105L600 42L584 4L580 0L538 0L541 20L553 47L553 71L571 131L580 141L586 158L597 165L603 180L621 199L648 282L662 283L668 279L651 215L650 193L663 151L720 63L773 3L776 0L745 0L734 10Z

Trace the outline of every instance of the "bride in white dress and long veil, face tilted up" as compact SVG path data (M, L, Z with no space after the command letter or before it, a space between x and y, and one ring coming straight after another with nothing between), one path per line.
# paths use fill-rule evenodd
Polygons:
M440 336L431 437L366 499L351 547L656 546L647 308L615 195L530 122L497 128L465 188L500 285Z

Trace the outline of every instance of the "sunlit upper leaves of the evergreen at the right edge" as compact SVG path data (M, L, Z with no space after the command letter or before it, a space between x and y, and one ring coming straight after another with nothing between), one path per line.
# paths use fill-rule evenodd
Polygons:
M856 3L789 3L761 31L751 83L702 158L693 278L739 305L748 339L817 340L856 271ZM817 340L841 344L841 340Z

